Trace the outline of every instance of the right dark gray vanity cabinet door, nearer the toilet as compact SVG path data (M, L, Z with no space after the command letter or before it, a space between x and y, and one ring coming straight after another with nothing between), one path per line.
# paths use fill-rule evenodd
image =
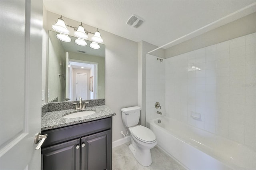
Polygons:
M112 169L111 130L81 138L81 170Z

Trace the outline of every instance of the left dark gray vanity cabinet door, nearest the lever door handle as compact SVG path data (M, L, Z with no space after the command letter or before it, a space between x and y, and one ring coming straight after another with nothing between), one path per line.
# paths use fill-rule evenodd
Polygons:
M80 138L42 149L41 169L80 170Z

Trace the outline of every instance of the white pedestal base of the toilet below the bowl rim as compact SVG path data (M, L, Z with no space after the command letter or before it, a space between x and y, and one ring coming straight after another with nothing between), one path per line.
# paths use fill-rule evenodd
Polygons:
M150 166L152 164L151 152L150 149L142 149L134 144L130 144L129 148L136 158L136 160L142 166Z

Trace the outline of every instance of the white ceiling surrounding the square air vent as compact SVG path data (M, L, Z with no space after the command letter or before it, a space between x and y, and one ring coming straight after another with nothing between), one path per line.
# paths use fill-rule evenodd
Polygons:
M232 16L255 0L44 0L46 10L99 28L134 42L158 47ZM241 11L241 10L240 10ZM136 14L144 19L139 28L126 24ZM247 13L248 14L248 13ZM246 15L247 15L246 14ZM242 17L242 15L238 16ZM226 22L231 22L234 19ZM222 25L226 24L222 22ZM208 30L209 30L208 29ZM104 35L102 35L104 36ZM166 46L164 48L167 48Z

